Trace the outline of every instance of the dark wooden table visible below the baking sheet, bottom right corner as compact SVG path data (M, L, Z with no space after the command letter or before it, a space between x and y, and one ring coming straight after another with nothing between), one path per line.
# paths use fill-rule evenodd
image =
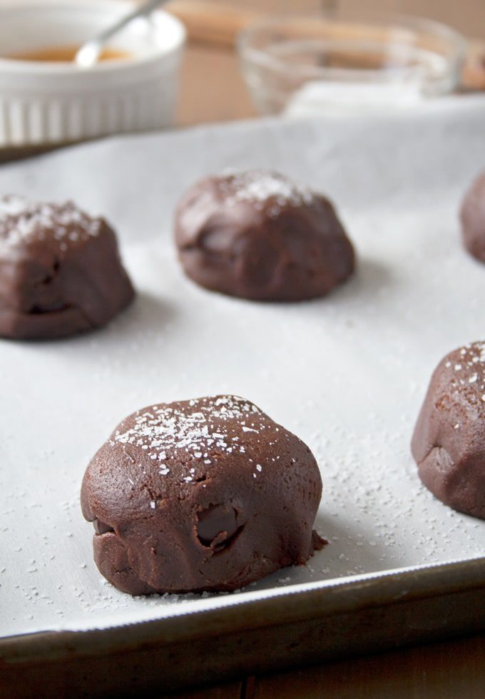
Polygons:
M161 697L166 695L160 695ZM173 695L172 695L173 696ZM180 699L484 699L485 634L241 678Z

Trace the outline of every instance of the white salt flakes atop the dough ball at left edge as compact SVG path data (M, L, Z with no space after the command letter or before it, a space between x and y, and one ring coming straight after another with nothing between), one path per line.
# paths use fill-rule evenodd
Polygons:
M96 237L100 230L101 218L91 218L71 201L51 204L16 195L0 199L0 242L6 245L44 240L46 236L62 245Z

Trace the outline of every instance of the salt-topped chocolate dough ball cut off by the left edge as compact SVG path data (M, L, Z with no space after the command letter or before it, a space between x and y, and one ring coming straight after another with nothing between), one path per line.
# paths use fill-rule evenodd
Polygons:
M0 336L33 340L91 330L133 293L105 220L70 202L0 199Z

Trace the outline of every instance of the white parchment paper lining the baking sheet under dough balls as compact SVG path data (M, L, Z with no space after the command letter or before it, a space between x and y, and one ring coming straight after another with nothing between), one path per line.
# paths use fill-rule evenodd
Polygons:
M275 168L328 193L355 277L297 305L245 302L186 280L171 240L183 191L223 168ZM0 193L73 198L116 226L138 289L109 327L0 342L0 635L160 618L275 588L481 556L485 522L420 484L409 440L430 374L485 339L485 265L457 211L485 168L485 101L393 117L261 121L114 138L0 168ZM93 453L146 404L232 392L310 445L317 529L330 544L223 596L131 598L92 561L78 494Z

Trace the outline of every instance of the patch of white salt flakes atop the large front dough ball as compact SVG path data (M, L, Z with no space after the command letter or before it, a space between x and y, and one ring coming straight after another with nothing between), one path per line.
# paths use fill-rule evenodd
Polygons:
M133 444L146 451L147 456L160 463L160 474L169 472L168 459L190 454L210 464L210 451L226 454L245 453L244 445L235 431L260 434L269 419L254 404L235 396L193 399L192 412L170 406L153 406L138 414L134 427L117 432L111 445ZM257 414L255 422L252 417ZM235 430L237 428L237 430Z

